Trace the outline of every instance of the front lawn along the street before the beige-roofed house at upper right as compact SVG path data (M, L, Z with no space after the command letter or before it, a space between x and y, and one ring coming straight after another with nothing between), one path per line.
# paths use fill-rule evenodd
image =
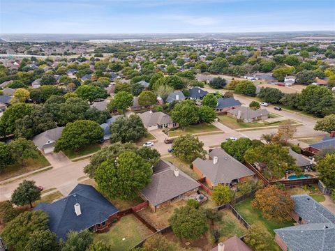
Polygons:
M259 122L244 123L244 122L237 122L236 119L231 118L230 116L226 116L226 115L219 115L218 118L219 118L220 123L232 129L261 128L265 126L280 126L283 123L290 121L290 119L288 119L288 120L283 120L283 121L276 121L274 123L259 123ZM295 122L291 121L291 123L294 124Z

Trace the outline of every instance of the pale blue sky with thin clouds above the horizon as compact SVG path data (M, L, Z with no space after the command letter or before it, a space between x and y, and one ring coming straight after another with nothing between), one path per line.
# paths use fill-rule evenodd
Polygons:
M0 0L0 33L335 30L334 0Z

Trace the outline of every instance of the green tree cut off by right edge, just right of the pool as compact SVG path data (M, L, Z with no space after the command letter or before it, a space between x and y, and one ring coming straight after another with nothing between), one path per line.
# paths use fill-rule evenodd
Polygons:
M319 178L327 188L335 188L335 154L327 154L318 161L316 169L320 173Z

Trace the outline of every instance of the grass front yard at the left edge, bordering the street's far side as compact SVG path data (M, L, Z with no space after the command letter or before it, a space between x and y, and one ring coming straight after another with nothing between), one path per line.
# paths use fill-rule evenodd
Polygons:
M19 176L21 174L25 174L27 172L32 172L43 167L49 166L50 163L43 155L39 155L38 158L33 159L29 158L24 160L24 167L21 162L15 163L14 165L10 165L6 168L4 172L0 174L0 181L4 181L8 178L13 178L15 176Z

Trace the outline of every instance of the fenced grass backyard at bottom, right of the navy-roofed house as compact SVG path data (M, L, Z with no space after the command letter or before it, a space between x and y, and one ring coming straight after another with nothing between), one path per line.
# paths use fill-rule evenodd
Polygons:
M131 250L151 234L153 233L131 214L113 223L109 231L94 234L94 241L110 245L113 251Z

